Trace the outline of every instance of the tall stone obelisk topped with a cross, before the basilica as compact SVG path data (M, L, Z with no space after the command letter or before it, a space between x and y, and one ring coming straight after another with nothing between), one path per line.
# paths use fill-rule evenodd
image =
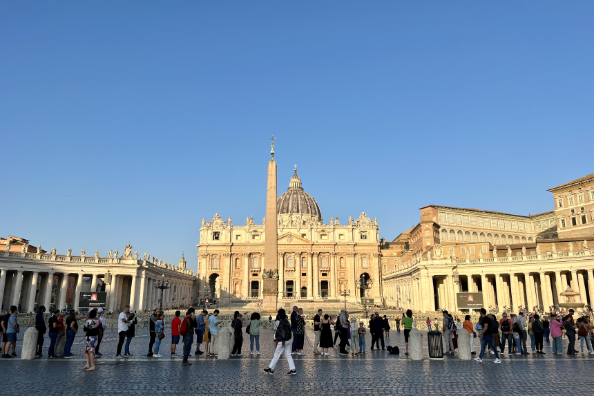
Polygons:
M278 299L278 222L276 220L276 162L274 162L274 136L268 162L266 183L266 229L264 242L264 274L262 274L262 314L276 314ZM273 315L274 316L274 315Z

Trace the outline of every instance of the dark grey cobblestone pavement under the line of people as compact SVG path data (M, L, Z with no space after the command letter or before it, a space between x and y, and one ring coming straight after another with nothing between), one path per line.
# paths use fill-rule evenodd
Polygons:
M545 386L548 393L562 393L568 378L591 375L594 369L594 355L551 355L547 345L547 355L506 355L502 357L502 364L492 364L494 355L486 355L482 364L459 361L449 355L443 361L412 361L405 355L371 352L370 337L367 338L365 355L346 357L338 355L338 349L334 349L330 357L321 357L312 354L314 334L308 329L306 356L294 356L298 374L286 375L288 365L283 357L274 375L266 375L262 370L269 365L274 349L271 330L261 330L261 355L249 355L249 336L244 335L243 357L220 361L204 356L195 358L192 354L193 366L182 366L180 357L169 357L169 336L162 341L160 353L163 357L160 359L146 357L146 332L133 339L133 357L125 359L115 359L117 340L112 339L102 343L104 358L97 360L97 370L90 373L82 370L83 344L79 343L82 337L77 337L73 347L74 359L0 359L4 378L12 378L12 375L15 378L4 382L3 393L82 395L111 391L117 395L138 395L139 392L147 395L165 390L175 395L294 396L334 393L342 386L343 395L477 395L488 389L490 395L508 396L509 388L502 385L517 384L518 379L524 383L534 380L535 384ZM392 331L390 336L386 339L387 345L399 346L404 353L403 333ZM426 343L426 334L423 334L425 357L428 357ZM528 348L529 343L528 339ZM47 349L49 343L44 345ZM579 350L579 342L576 346ZM477 351L478 347L477 342ZM178 352L181 353L181 344ZM20 355L18 346L17 353ZM89 390L91 386L96 390Z

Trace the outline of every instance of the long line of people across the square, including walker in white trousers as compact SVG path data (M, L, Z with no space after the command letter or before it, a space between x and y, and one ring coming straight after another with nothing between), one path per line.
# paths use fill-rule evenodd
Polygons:
M58 348L62 338L64 338L64 352L61 356L64 359L71 359L73 354L71 348L75 341L75 336L79 330L79 321L83 321L84 331L84 355L86 365L84 370L95 370L95 359L102 358L102 352L99 352L104 333L107 330L107 321L104 317L103 308L91 310L86 315L79 314L74 310L67 315L64 312L55 310L47 320L44 316L46 308L39 307L35 317L35 328L38 331L36 357L43 357L44 334L48 333L50 346L48 348L48 359L58 357ZM10 358L17 356L15 345L17 333L20 331L17 315L19 311L16 306L10 307L10 312L3 312L0 326L2 330L2 357ZM165 338L166 328L171 328L171 357L178 357L178 345L182 342L182 364L190 366L189 355L194 350L194 355L205 355L206 357L216 357L218 355L218 333L222 322L218 321L219 310L209 313L207 310L200 312L194 308L189 308L184 316L180 310L175 312L175 317L171 322L166 323L164 314L159 309L152 312L148 318L148 352L147 357L160 358L161 343ZM434 327L443 333L444 346L447 354L452 354L458 350L458 334L466 331L470 334L470 351L476 355L475 338L479 338L481 349L479 356L475 361L482 361L486 353L495 355L493 363L501 363L500 356L506 354L506 344L508 346L508 355L529 355L535 353L543 355L544 342L551 344L553 354L563 353L562 339L567 339L566 353L575 355L578 353L594 354L591 337L594 337L591 318L588 315L574 319L574 311L569 310L568 314L558 313L543 314L542 317L536 313L519 312L518 314L504 312L501 319L497 319L494 314L488 314L485 309L480 310L480 317L473 321L467 314L464 320L459 317L452 317L447 310L441 312L443 319L431 321L426 318L426 324L431 331ZM278 359L285 354L289 362L289 375L296 373L294 361L291 355L305 355L305 327L306 317L302 308L293 307L290 315L287 315L284 309L278 310L276 319L274 319L273 334L275 343L274 358L265 370L267 373L274 373ZM424 318L423 318L424 319ZM126 305L124 310L119 313L117 318L118 342L116 348L116 359L131 357L130 346L136 334L136 327L141 319L136 317L134 312L130 312L130 307ZM269 317L272 322L272 317ZM402 317L394 319L396 332L401 332L403 326L405 339L405 355L409 354L409 335L413 328L416 328L416 319L412 311L407 310ZM261 318L258 312L253 312L247 321L247 327L244 328L243 316L236 311L231 320L231 329L233 329L233 349L231 356L242 357L244 332L249 334L250 355L260 355L260 325ZM390 321L379 312L374 312L367 321L358 321L352 315L349 315L346 309L341 310L334 317L318 310L313 318L314 325L314 346L313 354L329 356L331 348L338 348L340 355L365 354L366 336L371 335L370 350L386 350L385 339L390 337ZM334 335L332 331L334 330ZM196 346L193 349L194 336ZM530 339L530 351L527 346ZM575 348L576 339L581 340L581 352ZM338 341L338 344L337 344ZM200 347L204 344L204 350ZM584 344L586 352L584 352ZM255 347L255 349L254 349ZM124 353L122 354L122 348ZM11 353L12 350L12 353Z

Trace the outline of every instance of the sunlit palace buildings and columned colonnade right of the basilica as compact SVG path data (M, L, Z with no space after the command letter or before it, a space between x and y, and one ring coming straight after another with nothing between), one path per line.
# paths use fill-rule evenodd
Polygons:
M456 311L459 298L481 294L493 311L549 311L571 287L591 308L594 173L548 191L555 209L528 216L421 207L420 223L381 249L385 304Z

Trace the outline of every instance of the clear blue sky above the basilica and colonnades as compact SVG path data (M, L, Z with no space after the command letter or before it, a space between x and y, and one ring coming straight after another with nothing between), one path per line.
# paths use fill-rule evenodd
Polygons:
M0 235L195 269L293 165L388 240L428 204L514 214L594 172L592 1L0 3Z

